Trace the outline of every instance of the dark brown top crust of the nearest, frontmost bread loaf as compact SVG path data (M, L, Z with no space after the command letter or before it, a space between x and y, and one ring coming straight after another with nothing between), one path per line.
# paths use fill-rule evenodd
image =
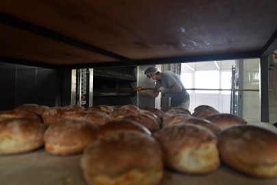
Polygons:
M159 163L162 152L155 138L130 131L98 138L81 157L81 168L91 176L116 176L133 169L144 172Z

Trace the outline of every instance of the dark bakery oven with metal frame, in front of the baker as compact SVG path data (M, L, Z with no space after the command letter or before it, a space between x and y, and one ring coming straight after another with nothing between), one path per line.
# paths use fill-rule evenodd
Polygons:
M135 87L155 87L144 75L149 66L120 66L72 70L71 104L85 108L107 105L120 108L133 105L139 108L160 108L160 99L137 93ZM79 95L81 92L81 95Z

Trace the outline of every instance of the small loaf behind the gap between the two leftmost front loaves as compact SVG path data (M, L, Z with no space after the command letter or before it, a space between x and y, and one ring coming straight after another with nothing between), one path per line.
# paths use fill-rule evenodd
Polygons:
M43 123L45 125L51 125L55 123L57 119L60 117L60 114L62 114L63 110L64 108L61 108L61 107L53 107L53 108L44 110L44 112L42 112L41 114Z

